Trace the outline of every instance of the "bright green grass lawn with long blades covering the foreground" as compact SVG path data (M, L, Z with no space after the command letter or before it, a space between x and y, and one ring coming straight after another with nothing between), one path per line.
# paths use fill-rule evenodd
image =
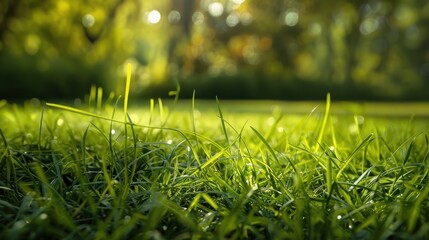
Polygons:
M0 102L1 239L429 237L425 118L125 96Z

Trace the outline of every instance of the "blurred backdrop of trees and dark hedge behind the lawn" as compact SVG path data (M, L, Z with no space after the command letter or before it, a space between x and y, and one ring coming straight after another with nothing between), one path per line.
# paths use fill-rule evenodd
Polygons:
M0 99L429 100L427 0L2 0Z

